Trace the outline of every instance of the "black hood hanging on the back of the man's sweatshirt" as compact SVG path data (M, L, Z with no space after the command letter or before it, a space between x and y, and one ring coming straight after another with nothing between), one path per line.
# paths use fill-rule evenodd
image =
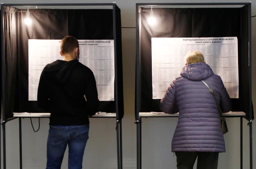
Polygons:
M68 80L73 68L77 63L77 60L56 60L50 64L47 64L43 71L50 79L63 83Z

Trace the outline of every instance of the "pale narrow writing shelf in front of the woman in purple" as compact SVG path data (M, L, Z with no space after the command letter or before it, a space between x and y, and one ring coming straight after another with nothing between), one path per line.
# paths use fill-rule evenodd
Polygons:
M245 113L242 111L233 111L233 112L223 113L223 116L224 117L245 117ZM140 112L139 117L179 117L179 113L165 114L163 112Z

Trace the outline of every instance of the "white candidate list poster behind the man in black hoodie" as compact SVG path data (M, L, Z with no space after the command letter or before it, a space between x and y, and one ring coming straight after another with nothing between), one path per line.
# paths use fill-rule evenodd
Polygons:
M60 56L61 40L28 40L28 100L37 100L37 88L44 66ZM78 40L79 62L89 67L96 80L100 101L114 100L114 40Z

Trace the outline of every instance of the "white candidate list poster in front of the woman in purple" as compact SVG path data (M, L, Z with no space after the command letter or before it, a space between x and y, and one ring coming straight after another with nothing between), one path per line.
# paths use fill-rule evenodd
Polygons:
M189 50L201 51L205 62L219 75L231 98L238 98L237 37L152 38L153 99L161 99L180 76Z

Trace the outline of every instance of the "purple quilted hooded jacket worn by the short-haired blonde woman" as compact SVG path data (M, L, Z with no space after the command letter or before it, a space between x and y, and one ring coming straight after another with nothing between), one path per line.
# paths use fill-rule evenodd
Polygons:
M231 110L231 100L220 76L205 63L185 66L180 77L172 81L160 102L165 113L176 113L179 120L172 139L172 152L225 152L225 141L220 128L216 103L201 82L204 80L220 104L223 112Z

